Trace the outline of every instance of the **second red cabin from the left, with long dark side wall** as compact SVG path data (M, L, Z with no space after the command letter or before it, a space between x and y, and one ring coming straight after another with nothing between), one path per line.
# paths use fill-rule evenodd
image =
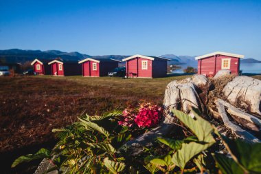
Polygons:
M82 74L78 61L63 61L56 59L48 63L52 67L53 76L76 76Z

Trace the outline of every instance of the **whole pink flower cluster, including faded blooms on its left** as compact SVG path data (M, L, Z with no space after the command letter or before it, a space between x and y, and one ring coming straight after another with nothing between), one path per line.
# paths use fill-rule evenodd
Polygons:
M139 109L125 109L122 119L118 122L119 125L132 127L137 124L138 127L150 128L159 124L162 118L162 108L157 105L151 105L149 102L144 102L139 106Z

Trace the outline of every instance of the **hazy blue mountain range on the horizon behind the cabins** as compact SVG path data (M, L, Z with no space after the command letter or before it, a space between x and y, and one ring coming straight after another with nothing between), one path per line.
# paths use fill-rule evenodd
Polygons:
M126 55L105 55L105 56L90 56L87 54L81 54L79 52L61 52L59 50L19 50L19 49L10 49L10 50L0 50L0 62L3 63L25 63L26 61L33 61L34 58L45 58L52 60L53 58L63 58L64 60L70 61L80 61L84 58L113 58L119 61L122 61L123 58L128 56ZM174 54L163 54L161 57L170 58L168 64L188 64L195 65L197 61L195 56L176 56ZM244 58L241 61L242 63L261 63L253 58Z

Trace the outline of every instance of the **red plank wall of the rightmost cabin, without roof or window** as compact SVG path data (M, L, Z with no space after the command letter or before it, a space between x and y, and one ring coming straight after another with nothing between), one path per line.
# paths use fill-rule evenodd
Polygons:
M212 74L215 75L219 70L222 69L223 58L230 58L229 70L231 71L231 74L238 74L240 63L239 58L223 55L216 55L216 61L215 56L198 60L198 74L204 74L206 76L211 76Z

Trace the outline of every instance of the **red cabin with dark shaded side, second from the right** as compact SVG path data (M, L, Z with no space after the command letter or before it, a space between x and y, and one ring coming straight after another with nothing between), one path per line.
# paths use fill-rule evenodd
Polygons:
M128 78L157 78L167 74L168 58L143 56L136 54L122 59L126 61L126 76Z

